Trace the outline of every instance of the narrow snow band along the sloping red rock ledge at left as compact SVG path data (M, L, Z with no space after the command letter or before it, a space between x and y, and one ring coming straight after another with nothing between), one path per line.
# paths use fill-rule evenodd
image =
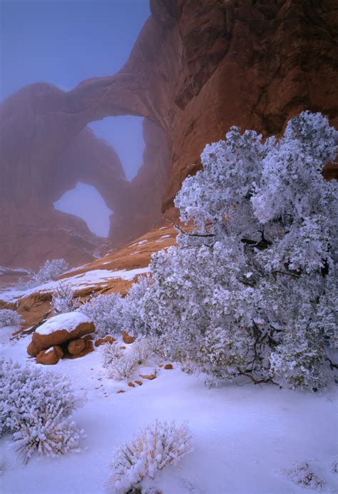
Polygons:
M58 281L48 281L42 285L29 288L28 290L10 290L0 293L0 299L6 302L16 301L18 298L31 295L36 292L51 292L56 289L59 284L68 285L73 289L80 290L81 288L96 286L98 283L108 283L111 279L122 278L123 280L133 280L135 276L148 273L149 268L121 269L111 271L108 269L93 269L86 273L80 273L75 276L63 278Z

